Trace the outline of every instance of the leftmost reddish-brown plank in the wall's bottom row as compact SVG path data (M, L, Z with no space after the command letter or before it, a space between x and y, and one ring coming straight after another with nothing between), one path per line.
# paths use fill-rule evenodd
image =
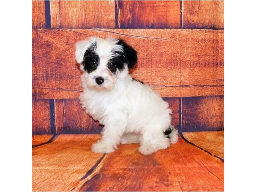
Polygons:
M50 106L48 99L32 99L32 134L50 134Z

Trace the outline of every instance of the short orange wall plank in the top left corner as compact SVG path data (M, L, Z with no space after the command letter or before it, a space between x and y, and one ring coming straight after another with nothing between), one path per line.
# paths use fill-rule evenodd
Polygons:
M32 1L32 28L45 28L44 1Z

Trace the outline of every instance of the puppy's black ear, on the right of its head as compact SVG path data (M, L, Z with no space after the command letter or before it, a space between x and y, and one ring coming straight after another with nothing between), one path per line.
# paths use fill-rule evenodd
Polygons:
M128 68L133 67L137 63L137 51L122 39L119 39L117 44L122 45L124 49L124 62L127 63Z

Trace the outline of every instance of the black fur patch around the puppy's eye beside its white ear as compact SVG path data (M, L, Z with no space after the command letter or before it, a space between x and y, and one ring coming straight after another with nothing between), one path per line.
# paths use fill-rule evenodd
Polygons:
M99 65L99 55L95 52L97 48L97 41L93 42L90 47L84 52L84 60L82 65L87 73L96 70Z

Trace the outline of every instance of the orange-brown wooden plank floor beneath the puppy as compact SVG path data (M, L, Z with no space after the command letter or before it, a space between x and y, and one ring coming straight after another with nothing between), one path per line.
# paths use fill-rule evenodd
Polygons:
M38 144L49 136L35 135L33 191L224 191L224 162L198 148L200 143L188 143L192 136L184 135L168 149L148 156L137 151L137 144L120 145L111 154L93 153L91 144L98 134L61 134L44 145ZM223 134L215 132L215 137L219 142ZM196 141L196 133L193 138ZM223 151L220 146L218 151Z

